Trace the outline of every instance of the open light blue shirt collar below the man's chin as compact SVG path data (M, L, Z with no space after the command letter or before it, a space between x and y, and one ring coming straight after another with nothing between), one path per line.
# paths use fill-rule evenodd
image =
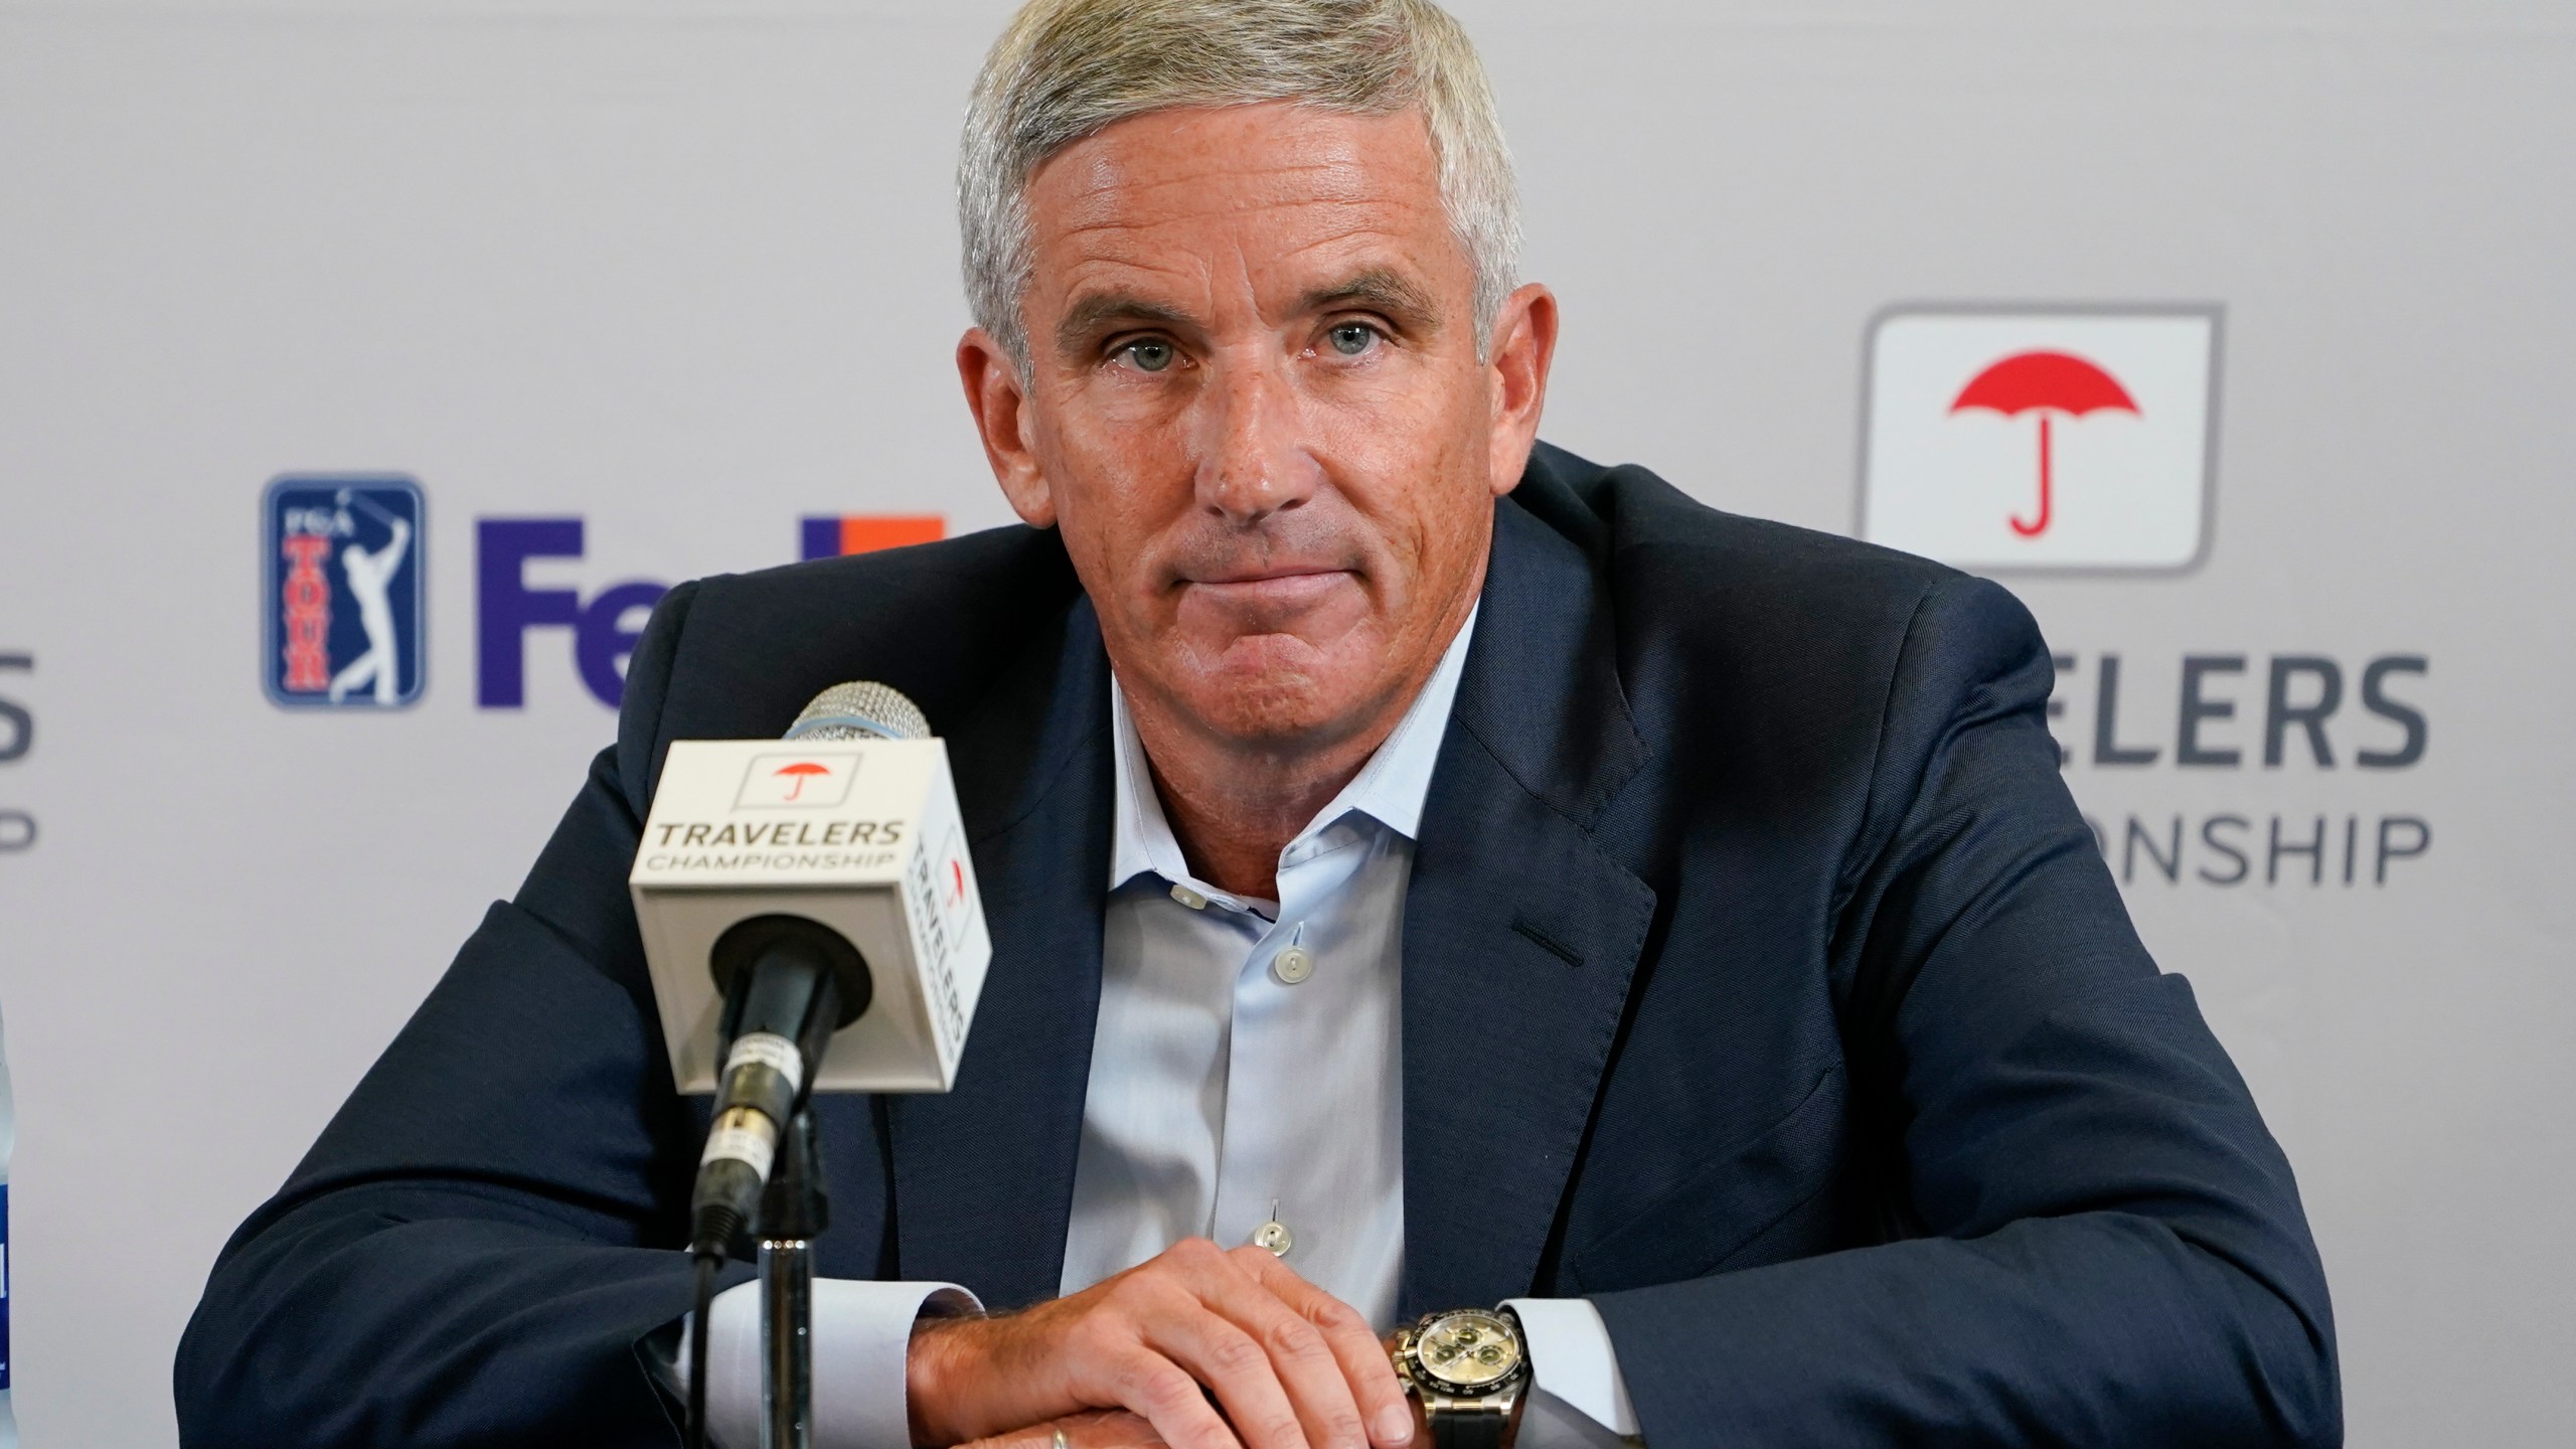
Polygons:
M1332 797L1332 804L1298 830L1298 841L1350 812L1368 815L1406 841L1414 838L1422 828L1422 799L1432 789L1432 766L1440 761L1440 737L1448 735L1450 704L1458 699L1458 676L1466 673L1466 647L1476 634L1476 614L1481 608L1484 601L1468 608L1466 621L1458 624L1458 634L1450 637L1448 650L1440 655L1440 665L1432 668L1432 678L1422 683L1422 694L1414 696L1404 719L1396 722L1396 732L1378 745L1378 753L1368 755L1368 763L1342 786L1342 794ZM1159 874L1172 884L1188 884L1208 895L1213 887L1190 877L1180 841L1172 838L1172 822L1164 817L1162 797L1154 792L1154 771L1146 768L1144 740L1136 737L1136 719L1128 717L1126 688L1118 683L1115 670L1110 670L1110 730L1118 737L1113 755L1115 822L1110 828L1110 890L1141 874ZM1291 848L1296 848L1296 841L1291 841Z

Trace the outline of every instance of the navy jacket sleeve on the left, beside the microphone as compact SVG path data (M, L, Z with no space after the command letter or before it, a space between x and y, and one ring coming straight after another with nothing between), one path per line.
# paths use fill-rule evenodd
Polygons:
M690 1305L696 1124L626 864L688 603L654 611L621 743L518 900L224 1248L178 1351L183 1444L677 1444L636 1343Z

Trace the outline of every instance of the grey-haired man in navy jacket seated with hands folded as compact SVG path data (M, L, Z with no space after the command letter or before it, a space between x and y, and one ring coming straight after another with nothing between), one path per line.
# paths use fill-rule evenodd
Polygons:
M2030 616L1538 443L1455 21L1036 0L958 211L1025 529L672 590L216 1263L191 1444L667 1444L701 1330L752 1441L623 879L672 737L842 678L943 727L994 959L956 1093L817 1101L819 1444L2339 1441L2290 1168Z

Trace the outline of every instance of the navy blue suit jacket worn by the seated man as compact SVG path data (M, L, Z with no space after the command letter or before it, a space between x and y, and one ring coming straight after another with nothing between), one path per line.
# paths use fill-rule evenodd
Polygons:
M822 1271L1056 1292L1108 663L1056 536L1002 529L672 590L518 900L224 1248L185 1444L672 1441L636 1343L688 1307L706 1109L636 822L670 740L845 678L945 732L994 959L951 1096L819 1104ZM1406 897L1404 1312L1592 1297L1654 1449L2339 1441L2290 1165L2138 946L2048 688L1991 583L1540 449Z

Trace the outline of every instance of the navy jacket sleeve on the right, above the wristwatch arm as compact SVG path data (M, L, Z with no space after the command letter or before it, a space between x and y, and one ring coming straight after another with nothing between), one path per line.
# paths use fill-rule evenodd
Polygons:
M1602 1294L1654 1449L2339 1444L2290 1165L2159 975L2020 603L1917 606L1834 923L1909 1238Z

